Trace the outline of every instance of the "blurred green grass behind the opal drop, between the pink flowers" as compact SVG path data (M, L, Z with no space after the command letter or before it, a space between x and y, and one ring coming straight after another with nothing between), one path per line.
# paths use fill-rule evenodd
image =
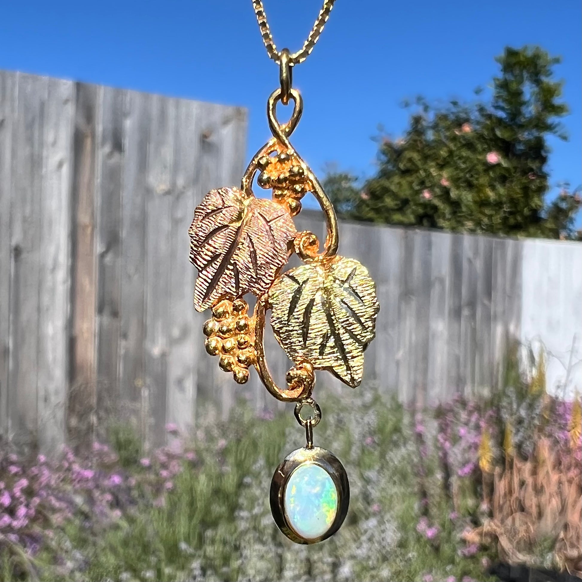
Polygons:
M271 517L272 473L286 453L304 444L291 409L264 421L240 405L228 423L204 427L204 438L195 443L198 462L175 477L164 507L144 498L137 510L99 535L80 521L68 523L53 547L35 559L39 578L403 582L432 574L435 582L449 576L488 580L481 555L459 556L463 544L438 485L430 492L431 523L441 528L438 543L416 531L417 455L403 407L362 389L350 396L347 406L332 396L322 399L324 416L314 431L315 443L342 460L350 479L349 514L329 540L295 545ZM219 439L226 440L220 450ZM116 428L111 441L120 464L139 471L142 453L134 435ZM431 463L435 471L437 463ZM66 562L74 550L86 563L82 572L55 564L56 555ZM0 558L0 581L9 580L7 572Z

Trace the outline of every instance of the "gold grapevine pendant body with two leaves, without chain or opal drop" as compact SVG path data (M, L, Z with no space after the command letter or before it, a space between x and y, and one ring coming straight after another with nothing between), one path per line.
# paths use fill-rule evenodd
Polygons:
M254 155L241 187L211 190L194 211L190 260L198 269L194 307L212 308L204 324L205 347L219 356L222 370L235 381L249 379L254 365L276 399L309 398L314 370L328 370L356 387L363 374L363 353L374 339L379 311L375 285L360 262L340 257L338 221L317 177L289 142L299 123L303 100L289 90L293 113L280 124L276 105L282 90L267 104L273 137ZM272 190L272 200L254 196L252 184ZM297 232L292 217L311 192L325 215L324 249L314 233ZM295 252L304 264L282 272ZM253 315L244 294L257 297ZM269 372L264 350L267 311L279 345L293 367L280 388Z

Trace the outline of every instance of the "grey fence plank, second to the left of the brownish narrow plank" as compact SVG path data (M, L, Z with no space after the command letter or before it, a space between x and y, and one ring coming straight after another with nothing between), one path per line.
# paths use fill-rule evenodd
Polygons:
M12 140L10 359L8 407L12 438L38 432L38 313L41 263L42 147L48 80L18 75ZM8 275L8 274L6 274Z

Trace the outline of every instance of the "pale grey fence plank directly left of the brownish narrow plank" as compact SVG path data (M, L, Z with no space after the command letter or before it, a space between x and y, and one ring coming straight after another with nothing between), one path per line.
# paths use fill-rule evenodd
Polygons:
M65 441L74 95L72 82L48 80L42 137L37 372L38 442L45 453L56 450Z

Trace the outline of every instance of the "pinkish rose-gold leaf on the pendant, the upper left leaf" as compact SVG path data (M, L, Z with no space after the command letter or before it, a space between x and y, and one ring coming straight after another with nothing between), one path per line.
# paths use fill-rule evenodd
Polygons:
M198 269L194 307L204 311L223 297L264 293L287 262L296 232L272 200L237 188L211 190L189 230L190 261Z

